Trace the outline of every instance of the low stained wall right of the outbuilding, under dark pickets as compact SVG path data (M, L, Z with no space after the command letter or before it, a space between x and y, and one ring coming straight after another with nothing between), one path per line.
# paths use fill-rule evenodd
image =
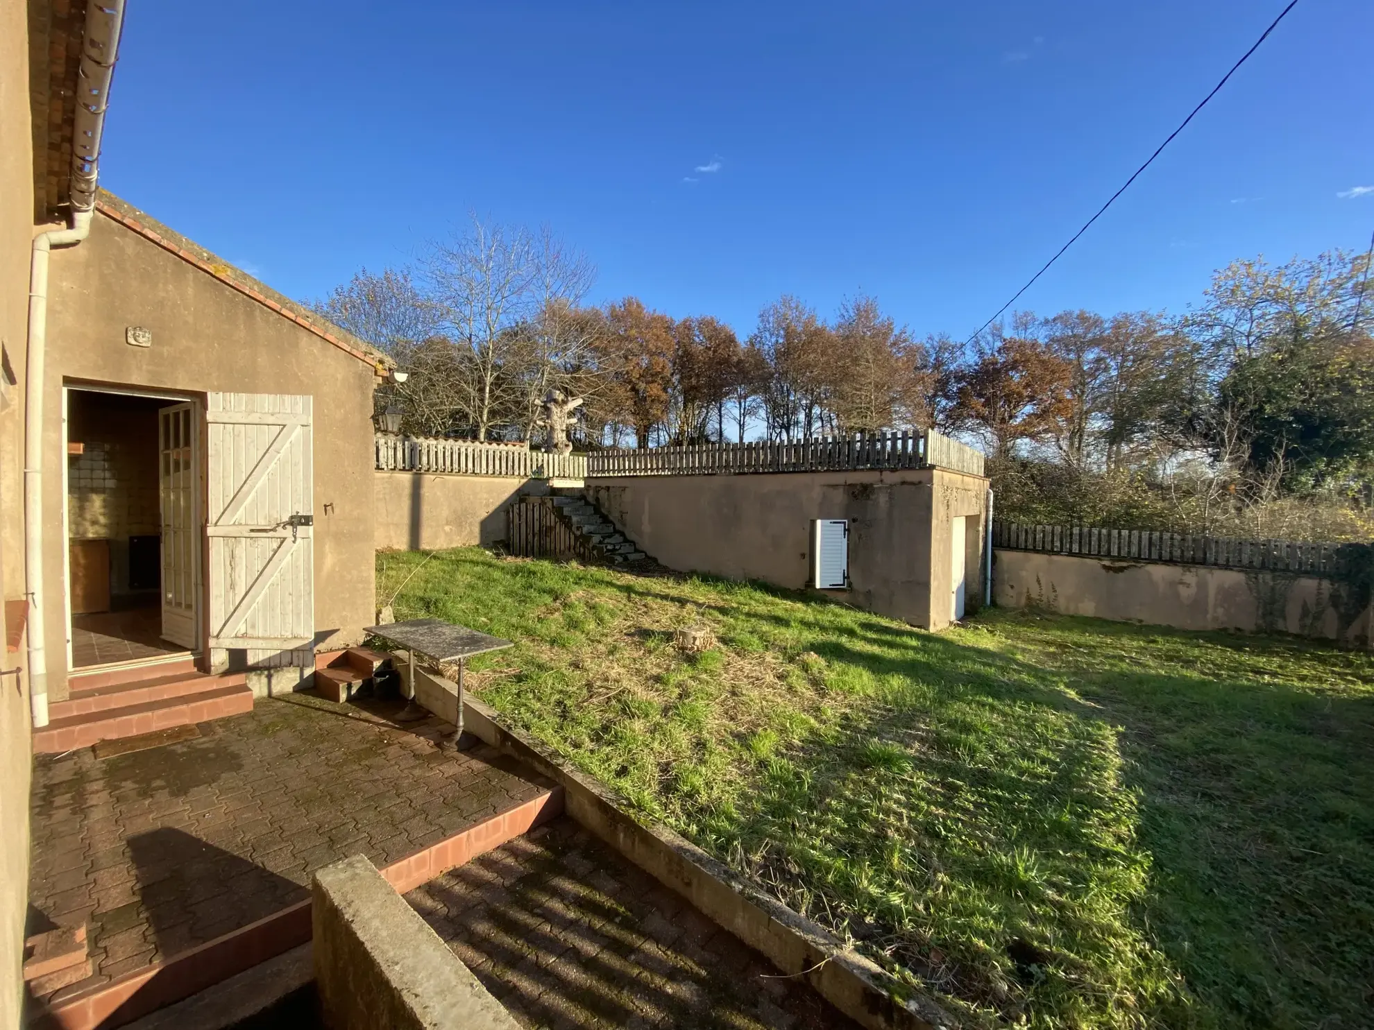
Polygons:
M1179 629L1370 639L1370 611L1342 614L1340 588L1330 580L1000 548L993 558L993 599L1002 607L1040 606Z

